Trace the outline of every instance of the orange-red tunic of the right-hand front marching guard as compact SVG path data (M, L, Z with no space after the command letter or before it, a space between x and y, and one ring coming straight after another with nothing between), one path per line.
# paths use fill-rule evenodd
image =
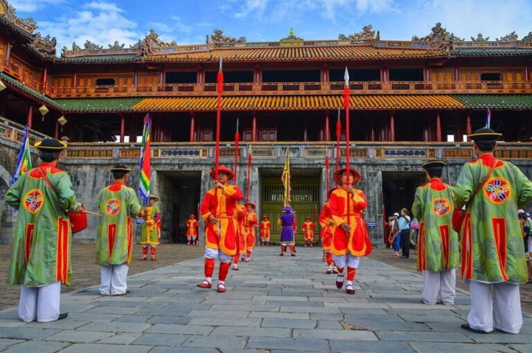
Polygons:
M330 210L332 220L335 225L332 226L332 253L334 255L346 255L351 253L355 256L367 256L371 253L371 240L368 235L368 228L366 222L362 218L364 208L368 206L366 196L362 190L355 190L355 194L349 196L350 219L351 226L350 234L347 234L344 229L340 227L341 224L347 222L347 196L348 192L345 188L339 188L330 195Z

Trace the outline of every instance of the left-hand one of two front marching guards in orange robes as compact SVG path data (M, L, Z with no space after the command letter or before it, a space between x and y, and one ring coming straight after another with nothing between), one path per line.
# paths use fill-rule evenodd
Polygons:
M215 170L209 174L215 178ZM211 288L214 272L214 260L220 260L218 271L218 292L225 291L225 278L231 266L231 257L236 255L236 206L242 199L242 190L237 185L229 185L227 181L235 174L227 167L218 167L218 180L214 188L209 190L202 201L199 211L205 220L205 279L197 287Z

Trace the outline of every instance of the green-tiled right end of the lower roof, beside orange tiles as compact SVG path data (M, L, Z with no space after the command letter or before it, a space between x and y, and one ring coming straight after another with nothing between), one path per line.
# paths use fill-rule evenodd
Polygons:
M532 94L454 94L469 109L532 109Z

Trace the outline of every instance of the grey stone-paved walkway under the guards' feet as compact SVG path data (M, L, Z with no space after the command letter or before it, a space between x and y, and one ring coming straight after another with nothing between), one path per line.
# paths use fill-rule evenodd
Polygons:
M532 352L532 315L522 334L472 334L459 325L469 309L420 304L421 278L364 259L349 296L326 275L321 249L278 257L258 248L227 293L196 287L196 258L133 275L132 293L102 297L95 287L66 293L66 320L28 323L0 311L1 352Z

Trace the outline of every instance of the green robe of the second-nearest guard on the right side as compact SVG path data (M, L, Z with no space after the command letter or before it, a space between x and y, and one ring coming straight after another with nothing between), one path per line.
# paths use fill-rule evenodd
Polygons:
M456 269L458 234L452 229L452 190L439 178L416 189L412 215L419 219L418 270Z

